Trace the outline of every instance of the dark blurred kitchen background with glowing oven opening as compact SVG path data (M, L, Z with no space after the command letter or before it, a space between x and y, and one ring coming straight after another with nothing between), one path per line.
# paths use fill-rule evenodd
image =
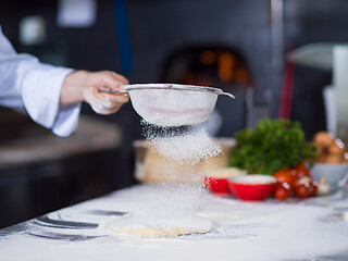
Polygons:
M95 8L89 22L64 24L60 15L67 2L80 12L86 2ZM348 41L347 14L346 0L0 3L2 30L18 52L57 65L115 71L130 83L220 87L237 99L219 99L214 136L233 137L259 119L288 115L301 122L308 140L326 129L322 90L332 73L294 66L286 52ZM0 227L136 183L133 141L142 136L130 102L108 116L85 104L83 117L78 132L61 139L0 108Z

